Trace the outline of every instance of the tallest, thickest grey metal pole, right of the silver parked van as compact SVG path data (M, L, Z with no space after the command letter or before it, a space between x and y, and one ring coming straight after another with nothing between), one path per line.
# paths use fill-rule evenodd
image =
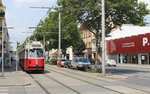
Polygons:
M102 75L105 76L105 0L102 0Z

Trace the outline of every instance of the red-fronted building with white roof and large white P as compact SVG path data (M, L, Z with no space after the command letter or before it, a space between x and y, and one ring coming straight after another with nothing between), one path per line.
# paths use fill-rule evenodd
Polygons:
M118 63L150 64L150 27L122 26L110 33L107 56Z

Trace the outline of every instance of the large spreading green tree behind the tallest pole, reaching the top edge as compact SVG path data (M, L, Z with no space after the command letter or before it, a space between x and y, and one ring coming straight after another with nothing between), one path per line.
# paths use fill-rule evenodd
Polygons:
M78 23L95 35L96 52L101 41L101 0L59 0L58 5L66 15L73 15ZM147 4L138 0L105 0L106 36L122 24L143 26L144 16L149 14ZM66 16L67 17L67 16ZM98 55L98 53L97 53ZM96 56L97 56L96 55Z

